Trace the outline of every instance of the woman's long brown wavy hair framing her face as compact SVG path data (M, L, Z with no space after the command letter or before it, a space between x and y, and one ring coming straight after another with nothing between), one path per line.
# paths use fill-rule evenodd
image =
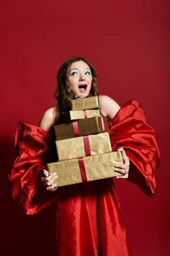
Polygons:
M54 95L54 99L56 100L55 119L54 119L55 125L60 123L60 114L62 112L69 110L71 106L71 100L73 100L75 96L73 91L69 88L68 76L69 76L71 64L76 61L84 61L91 69L92 82L91 82L91 90L89 92L89 96L99 95L99 92L97 89L97 81L96 81L97 72L95 71L95 68L91 65L91 63L89 63L87 59L84 59L82 57L71 57L69 59L66 59L60 66L60 69L58 70L58 74L57 74L58 88Z

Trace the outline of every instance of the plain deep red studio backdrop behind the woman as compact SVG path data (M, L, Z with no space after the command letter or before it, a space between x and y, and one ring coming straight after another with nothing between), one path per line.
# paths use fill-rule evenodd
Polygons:
M116 188L134 255L169 255L169 1L15 0L1 1L0 9L1 255L55 255L52 206L24 216L7 172L17 121L38 125L54 105L60 64L74 55L93 63L101 94L120 105L136 98L157 131L157 195L128 181Z

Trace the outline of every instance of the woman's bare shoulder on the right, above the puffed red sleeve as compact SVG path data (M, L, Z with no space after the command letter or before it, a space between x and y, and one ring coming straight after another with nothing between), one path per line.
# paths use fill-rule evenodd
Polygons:
M101 104L102 115L112 120L116 113L118 113L118 110L120 110L119 104L112 98L105 95L99 96L99 101Z

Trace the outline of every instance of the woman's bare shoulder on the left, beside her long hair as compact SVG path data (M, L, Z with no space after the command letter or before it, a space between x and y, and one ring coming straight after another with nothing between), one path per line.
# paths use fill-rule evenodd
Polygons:
M39 126L45 131L50 131L51 127L54 125L54 114L55 108L49 108L42 115L42 119L40 120Z

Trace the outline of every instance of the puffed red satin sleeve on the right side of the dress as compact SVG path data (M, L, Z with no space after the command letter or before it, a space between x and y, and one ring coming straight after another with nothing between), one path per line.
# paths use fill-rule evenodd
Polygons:
M147 195L156 192L155 172L159 166L159 148L155 130L146 124L142 107L130 100L110 125L112 150L122 147L130 158L129 181Z

